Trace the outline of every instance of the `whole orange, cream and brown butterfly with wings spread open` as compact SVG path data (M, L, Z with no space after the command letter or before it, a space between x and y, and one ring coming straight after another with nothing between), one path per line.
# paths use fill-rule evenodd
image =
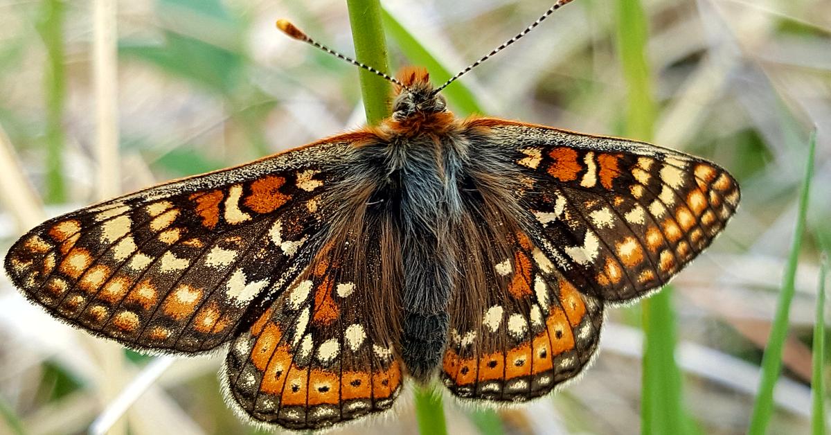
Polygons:
M7 274L128 348L227 346L238 413L318 429L386 411L408 377L550 393L592 361L604 309L666 284L739 204L710 161L459 119L425 70L395 81L379 126L47 220Z

